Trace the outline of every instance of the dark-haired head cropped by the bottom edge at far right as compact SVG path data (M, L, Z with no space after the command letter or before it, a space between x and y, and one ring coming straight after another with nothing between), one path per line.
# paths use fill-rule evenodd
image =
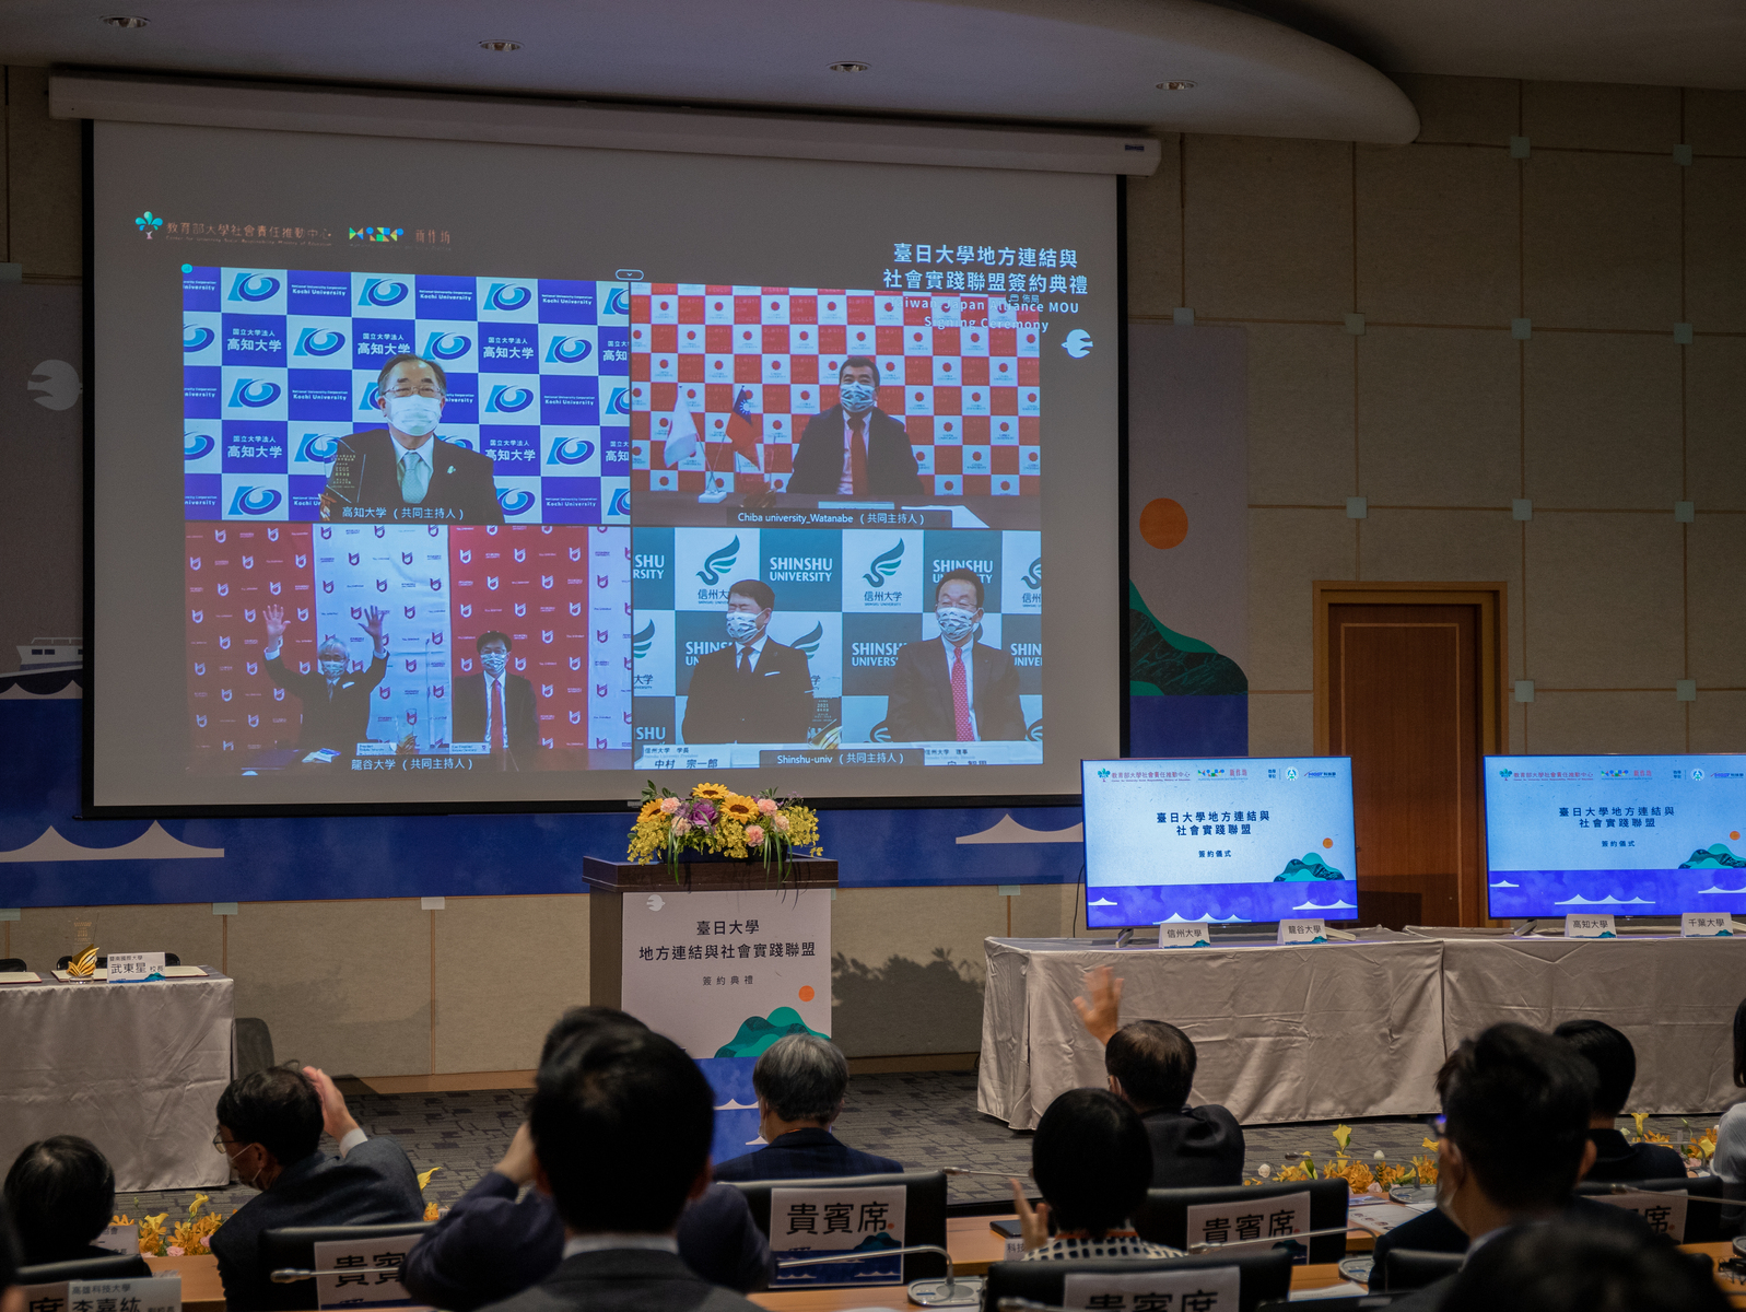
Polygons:
M1722 1312L1708 1263L1578 1221L1528 1225L1474 1254L1444 1312ZM1400 1303L1393 1303L1400 1307Z

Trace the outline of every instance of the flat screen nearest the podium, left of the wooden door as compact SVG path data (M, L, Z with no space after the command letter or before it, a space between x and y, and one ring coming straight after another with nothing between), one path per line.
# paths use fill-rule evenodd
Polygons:
M1088 760L1086 926L1350 921L1350 756Z

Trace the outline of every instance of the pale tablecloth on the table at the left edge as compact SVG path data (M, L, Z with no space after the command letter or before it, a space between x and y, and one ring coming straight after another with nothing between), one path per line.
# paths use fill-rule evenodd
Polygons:
M223 1184L213 1109L230 1081L232 982L0 985L0 1169L80 1134L115 1188Z

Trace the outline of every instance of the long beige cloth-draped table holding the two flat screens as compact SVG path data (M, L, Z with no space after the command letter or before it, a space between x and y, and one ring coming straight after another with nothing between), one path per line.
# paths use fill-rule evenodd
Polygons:
M1072 1006L1095 966L1124 980L1123 1019L1170 1020L1194 1039L1193 1101L1245 1125L1433 1113L1444 1057L1500 1020L1617 1025L1638 1052L1633 1111L1716 1111L1734 1095L1741 938L1409 926L1308 945L988 938L985 949L976 1108L1014 1130L1035 1129L1069 1088L1103 1083L1103 1046Z

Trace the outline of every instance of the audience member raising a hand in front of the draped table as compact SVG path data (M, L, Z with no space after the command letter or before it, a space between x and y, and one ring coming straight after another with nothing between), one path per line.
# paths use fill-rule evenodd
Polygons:
M1074 1010L1103 1045L1109 1087L1126 1099L1152 1141L1152 1188L1182 1190L1243 1183L1243 1127L1224 1108L1187 1106L1194 1087L1194 1039L1163 1020L1130 1020L1117 1029L1121 980L1109 966L1086 971L1086 998Z

